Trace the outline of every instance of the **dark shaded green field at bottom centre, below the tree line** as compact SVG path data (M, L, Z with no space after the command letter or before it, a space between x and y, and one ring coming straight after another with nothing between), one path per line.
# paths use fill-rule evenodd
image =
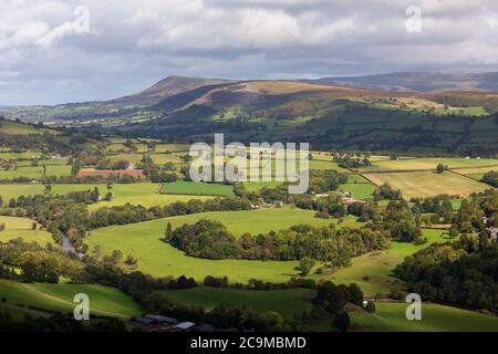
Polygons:
M255 311L279 312L283 317L292 317L311 310L311 300L315 291L310 289L290 289L273 291L251 291L229 288L191 288L185 290L165 290L169 300L205 310L212 310L218 304L247 306Z

